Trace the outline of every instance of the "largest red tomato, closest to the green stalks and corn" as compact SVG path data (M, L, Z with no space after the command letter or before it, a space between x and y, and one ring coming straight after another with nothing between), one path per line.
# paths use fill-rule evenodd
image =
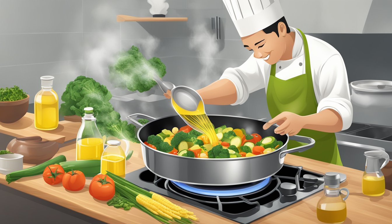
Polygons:
M108 201L113 198L114 192L114 181L109 176L98 174L91 180L89 193L94 199Z

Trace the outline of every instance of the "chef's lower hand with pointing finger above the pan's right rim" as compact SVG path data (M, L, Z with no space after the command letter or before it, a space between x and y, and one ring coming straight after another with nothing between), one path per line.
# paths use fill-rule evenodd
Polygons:
M305 125L302 116L287 111L280 113L269 122L265 123L263 129L268 129L274 123L279 125L279 127L274 130L276 134L289 134L290 136L298 134Z

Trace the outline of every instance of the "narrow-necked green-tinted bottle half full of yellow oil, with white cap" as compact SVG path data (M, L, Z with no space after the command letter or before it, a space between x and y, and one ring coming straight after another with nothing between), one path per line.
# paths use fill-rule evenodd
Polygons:
M95 123L93 107L84 108L82 125L76 136L76 160L101 159L103 139Z

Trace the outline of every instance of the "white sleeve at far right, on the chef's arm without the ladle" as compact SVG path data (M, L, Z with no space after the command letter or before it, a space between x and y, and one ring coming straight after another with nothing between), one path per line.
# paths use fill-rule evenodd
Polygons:
M343 121L342 130L348 129L352 123L352 104L350 90L343 58L333 55L321 68L319 76L319 103L317 112L333 109L339 113Z

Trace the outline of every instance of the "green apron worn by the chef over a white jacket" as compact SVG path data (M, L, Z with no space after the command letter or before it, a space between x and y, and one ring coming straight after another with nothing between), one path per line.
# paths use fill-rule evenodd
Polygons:
M317 113L317 100L314 95L312 73L310 69L309 48L305 35L302 35L305 53L305 74L281 80L275 77L276 64L271 66L271 73L267 88L267 105L271 117L276 117L284 111L301 116ZM313 138L316 143L307 151L292 153L301 157L311 158L323 162L342 165L335 133L301 129L298 135ZM305 143L289 140L287 149L305 145Z

